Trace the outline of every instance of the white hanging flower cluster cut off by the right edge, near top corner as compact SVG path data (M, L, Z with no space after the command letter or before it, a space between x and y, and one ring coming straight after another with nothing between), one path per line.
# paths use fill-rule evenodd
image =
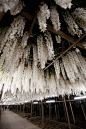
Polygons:
M77 24L86 31L86 10L84 8L76 8L72 15Z

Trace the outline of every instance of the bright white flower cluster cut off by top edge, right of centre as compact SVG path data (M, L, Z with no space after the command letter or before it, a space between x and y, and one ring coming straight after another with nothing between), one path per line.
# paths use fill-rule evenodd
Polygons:
M71 6L72 6L71 1L72 0L55 0L56 4L61 6L64 9L71 8Z

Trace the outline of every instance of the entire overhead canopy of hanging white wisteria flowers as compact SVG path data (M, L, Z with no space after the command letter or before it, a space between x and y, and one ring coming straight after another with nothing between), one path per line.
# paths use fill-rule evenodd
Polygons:
M1 22L0 28L2 102L24 103L65 94L85 94L86 8L73 8L73 5L71 0L44 1L31 24L27 19L32 14L26 1L0 1L0 12L10 11L13 19L8 25ZM35 23L38 25L33 27ZM82 39L79 43L78 38ZM70 49L76 40L79 47L73 45Z

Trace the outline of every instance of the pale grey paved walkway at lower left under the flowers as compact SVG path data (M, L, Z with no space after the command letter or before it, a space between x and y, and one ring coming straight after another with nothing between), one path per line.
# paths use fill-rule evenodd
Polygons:
M40 129L12 111L1 111L0 129Z

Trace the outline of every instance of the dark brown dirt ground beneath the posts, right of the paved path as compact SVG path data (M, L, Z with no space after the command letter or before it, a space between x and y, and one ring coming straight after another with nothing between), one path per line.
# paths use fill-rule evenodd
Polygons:
M22 117L26 117L28 121L31 121L33 124L40 128L44 129L69 129L69 125L67 120L65 121L56 121L56 119L53 117L49 119L49 117L44 118L44 127L42 127L42 118L40 116L32 117L30 116L30 113L23 113L18 112L19 115ZM70 118L71 122L71 129L86 129L86 120L84 119L83 114L77 114L75 115L76 125L73 124L73 119Z

